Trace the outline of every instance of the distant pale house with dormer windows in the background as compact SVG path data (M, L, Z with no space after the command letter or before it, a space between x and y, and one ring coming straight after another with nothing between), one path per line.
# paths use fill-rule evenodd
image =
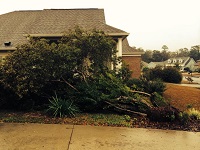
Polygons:
M184 68L189 68L190 70L195 70L195 64L193 58L190 57L174 57L170 58L163 62L150 62L148 64L148 68L155 68L157 66L160 66L162 68L165 67L178 67L180 68L180 71L184 71Z

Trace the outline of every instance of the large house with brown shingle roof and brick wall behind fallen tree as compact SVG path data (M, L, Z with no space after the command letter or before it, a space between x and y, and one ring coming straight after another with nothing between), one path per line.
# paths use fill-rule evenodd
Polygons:
M0 15L0 59L26 43L28 36L56 41L69 29L102 30L117 42L117 56L129 64L132 77L140 76L141 54L127 41L129 33L106 24L103 9L44 9Z

